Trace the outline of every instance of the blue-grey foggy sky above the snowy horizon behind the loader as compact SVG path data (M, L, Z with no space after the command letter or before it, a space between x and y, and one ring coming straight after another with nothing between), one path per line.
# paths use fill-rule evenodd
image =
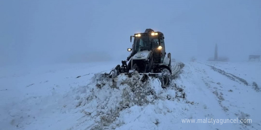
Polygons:
M130 35L163 32L172 58L261 54L261 1L1 0L0 65L119 61Z

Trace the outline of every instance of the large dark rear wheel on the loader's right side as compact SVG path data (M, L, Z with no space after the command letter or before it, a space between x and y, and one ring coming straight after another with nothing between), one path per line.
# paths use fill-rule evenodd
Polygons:
M159 68L156 70L157 73L163 73L163 77L160 77L161 87L166 88L171 82L171 73L166 68Z

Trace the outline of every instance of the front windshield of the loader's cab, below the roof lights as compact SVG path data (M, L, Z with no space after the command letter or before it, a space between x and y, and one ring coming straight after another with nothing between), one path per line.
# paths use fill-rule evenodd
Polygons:
M159 39L157 37L147 37L146 35L141 35L141 37L136 37L134 40L135 51L145 51L157 48L159 45Z

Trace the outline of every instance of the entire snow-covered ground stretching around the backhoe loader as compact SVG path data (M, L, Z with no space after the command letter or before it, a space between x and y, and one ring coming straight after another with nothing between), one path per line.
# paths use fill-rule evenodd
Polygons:
M125 75L96 85L117 64L0 68L0 129L261 129L261 63L186 62L167 89ZM252 123L182 123L206 118Z

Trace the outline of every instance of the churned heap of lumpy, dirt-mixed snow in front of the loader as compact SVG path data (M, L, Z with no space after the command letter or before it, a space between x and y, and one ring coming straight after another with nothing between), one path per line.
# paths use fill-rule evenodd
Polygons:
M140 112L144 109L149 109L149 111L146 111L147 116L157 112L159 115L164 115L174 111L178 106L174 104L180 101L186 102L182 88L171 84L167 90L163 90L159 79L147 76L147 74L137 74L131 78L125 74L120 74L114 79L114 82L103 81L95 84L94 81L92 85L89 85L93 88L80 95L79 102L76 105L82 113L91 116L92 120L95 121L92 129L121 128L119 126L123 124L126 125L122 126L122 129L130 128L129 125L136 128L135 124L128 123L135 121L135 118L140 116ZM164 110L161 111L162 109ZM185 110L186 108L181 109ZM147 118L145 115L144 118ZM163 115L162 119L164 119ZM153 119L148 118L147 120L144 119L143 123L150 122L155 127L160 121L155 115Z

